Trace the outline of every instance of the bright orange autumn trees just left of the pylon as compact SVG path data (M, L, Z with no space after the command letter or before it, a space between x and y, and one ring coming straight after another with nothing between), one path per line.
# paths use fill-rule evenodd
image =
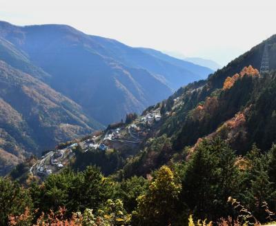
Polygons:
M259 71L253 68L251 65L249 65L248 67L244 67L244 69L241 72L239 72L239 74L235 74L232 77L227 77L224 81L224 87L222 89L228 90L232 88L235 81L241 79L244 76L259 76Z

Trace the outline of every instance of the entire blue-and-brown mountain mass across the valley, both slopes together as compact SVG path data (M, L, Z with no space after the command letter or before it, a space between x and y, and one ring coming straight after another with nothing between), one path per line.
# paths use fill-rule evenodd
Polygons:
M68 25L0 21L1 165L121 121L211 73Z

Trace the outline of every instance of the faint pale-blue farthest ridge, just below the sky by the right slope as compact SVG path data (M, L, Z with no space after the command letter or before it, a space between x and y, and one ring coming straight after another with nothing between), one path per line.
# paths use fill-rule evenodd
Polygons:
M203 59L203 58L200 58L200 57L187 57L187 56L184 56L184 54L180 54L180 53L177 53L177 52L170 52L170 51L168 51L168 52L166 51L165 53L167 53L170 56L176 57L177 59L182 59L184 61L195 63L197 65L201 65L201 66L210 68L214 71L221 68L221 65L219 65L219 63L217 63L215 61L212 61L210 59Z

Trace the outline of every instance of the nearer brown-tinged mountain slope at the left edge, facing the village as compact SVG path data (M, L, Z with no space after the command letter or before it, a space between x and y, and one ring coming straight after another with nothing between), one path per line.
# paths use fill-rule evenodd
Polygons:
M82 113L77 103L3 61L0 114L0 174L23 156L38 154L61 141L101 128Z

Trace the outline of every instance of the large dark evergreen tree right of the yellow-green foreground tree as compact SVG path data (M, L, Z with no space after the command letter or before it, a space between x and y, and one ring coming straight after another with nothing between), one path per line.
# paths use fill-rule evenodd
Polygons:
M236 156L225 141L199 144L184 168L182 200L198 218L229 214L227 198L238 192Z

